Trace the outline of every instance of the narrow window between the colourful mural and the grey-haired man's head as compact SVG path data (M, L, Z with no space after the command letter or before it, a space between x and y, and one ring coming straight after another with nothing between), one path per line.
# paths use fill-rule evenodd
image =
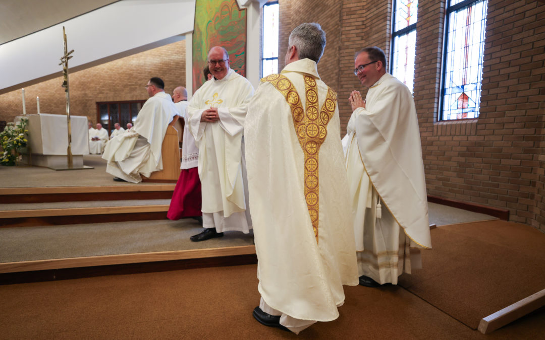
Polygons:
M262 77L278 73L278 2L263 6Z

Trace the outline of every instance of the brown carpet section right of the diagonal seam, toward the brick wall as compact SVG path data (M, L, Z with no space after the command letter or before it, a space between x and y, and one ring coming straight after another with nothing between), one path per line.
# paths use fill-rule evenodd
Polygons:
M473 329L545 288L545 234L535 228L498 220L441 226L431 234L423 269L402 276L399 285Z

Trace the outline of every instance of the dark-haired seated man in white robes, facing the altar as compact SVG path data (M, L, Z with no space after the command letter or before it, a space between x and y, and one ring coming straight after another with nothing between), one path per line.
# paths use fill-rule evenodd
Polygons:
M114 181L138 183L153 171L163 169L161 146L168 123L178 110L170 95L165 93L165 83L153 77L146 89L149 99L144 103L135 125L106 144L102 158L108 161L106 172Z

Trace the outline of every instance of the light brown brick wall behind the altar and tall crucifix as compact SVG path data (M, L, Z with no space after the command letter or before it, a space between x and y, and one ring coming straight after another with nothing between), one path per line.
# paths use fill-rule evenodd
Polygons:
M148 92L144 86L151 77L163 79L165 91L170 94L176 86L185 85L185 41L69 73L70 114L87 116L96 123L96 102L146 100ZM27 114L37 113L37 96L41 113L65 114L62 82L59 76L25 87ZM22 114L22 107L21 90L0 95L0 120L13 121Z

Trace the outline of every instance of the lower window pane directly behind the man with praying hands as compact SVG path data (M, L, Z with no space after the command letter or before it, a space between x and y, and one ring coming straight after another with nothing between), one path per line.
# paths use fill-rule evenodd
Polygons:
M413 92L416 54L416 30L393 38L392 76Z

